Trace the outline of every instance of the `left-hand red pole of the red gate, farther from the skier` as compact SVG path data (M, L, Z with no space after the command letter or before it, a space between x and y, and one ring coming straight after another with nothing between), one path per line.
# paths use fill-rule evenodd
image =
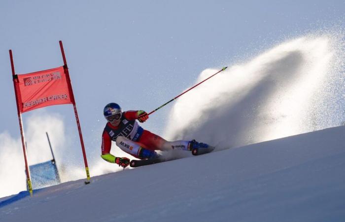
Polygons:
M25 160L25 171L26 171L26 177L27 177L27 186L28 186L28 189L30 192L30 196L33 196L33 186L31 185L30 170L29 170L28 159L27 159L27 154L26 154L26 144L25 144L25 139L24 139L22 114L21 114L20 109L19 109L18 91L17 91L17 87L16 87L16 81L18 80L18 78L16 77L16 74L14 72L14 63L13 63L13 56L12 56L12 50L11 49L9 50L9 57L11 60L13 86L14 86L14 94L16 96L16 105L17 105L17 111L18 111L20 135L22 137L23 153L24 153L24 160Z

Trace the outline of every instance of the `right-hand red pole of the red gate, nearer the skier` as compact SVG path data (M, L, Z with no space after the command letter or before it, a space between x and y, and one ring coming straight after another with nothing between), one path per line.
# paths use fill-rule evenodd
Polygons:
M65 70L65 74L66 74L66 78L67 78L67 82L69 85L69 91L71 96L71 100L73 103L73 109L74 109L74 115L75 115L75 120L77 122L77 127L78 127L78 132L79 132L79 138L80 138L80 144L81 144L81 149L83 151L83 157L84 157L84 164L85 164L85 170L86 170L86 177L87 177L87 181L85 181L85 184L89 184L90 183L90 173L89 173L89 167L87 165L87 159L86 159L86 153L85 153L85 147L84 147L84 141L83 141L83 135L81 133L81 127L80 127L80 122L79 122L79 117L78 117L78 111L77 111L77 107L75 105L75 100L74 100L74 94L73 94L73 89L72 89L72 84L70 81L70 77L69 77L69 68L67 66L67 62L66 62L66 57L65 57L65 51L64 51L64 46L62 45L62 41L59 41L60 43L60 49L61 49L61 54L62 54L62 58L64 60L64 70Z

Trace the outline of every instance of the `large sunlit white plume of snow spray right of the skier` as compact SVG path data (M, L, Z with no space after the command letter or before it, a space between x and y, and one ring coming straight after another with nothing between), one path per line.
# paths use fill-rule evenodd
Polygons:
M177 100L165 137L224 149L342 125L344 51L342 33L313 34L229 66Z

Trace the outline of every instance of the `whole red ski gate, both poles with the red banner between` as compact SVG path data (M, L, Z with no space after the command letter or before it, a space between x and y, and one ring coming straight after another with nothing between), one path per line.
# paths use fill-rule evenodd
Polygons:
M25 161L25 172L27 176L27 186L30 195L33 195L33 187L30 178L30 169L26 153L26 145L24 138L24 129L22 122L22 113L32 111L38 108L72 104L74 110L75 121L77 123L81 150L83 153L85 171L87 181L85 184L90 184L90 173L86 159L85 146L83 136L81 133L81 127L78 117L78 112L73 96L72 85L69 77L69 70L66 62L66 56L62 41L59 41L62 58L64 60L64 66L55 69L44 70L29 74L15 74L12 50L9 50L9 57L11 61L12 78L14 86L14 94L16 98L18 122L20 135L22 137L23 154Z

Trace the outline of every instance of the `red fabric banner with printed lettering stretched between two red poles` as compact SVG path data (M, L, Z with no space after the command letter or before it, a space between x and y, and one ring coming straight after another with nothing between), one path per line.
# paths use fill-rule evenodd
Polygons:
M14 76L20 112L42 107L72 104L64 67Z

